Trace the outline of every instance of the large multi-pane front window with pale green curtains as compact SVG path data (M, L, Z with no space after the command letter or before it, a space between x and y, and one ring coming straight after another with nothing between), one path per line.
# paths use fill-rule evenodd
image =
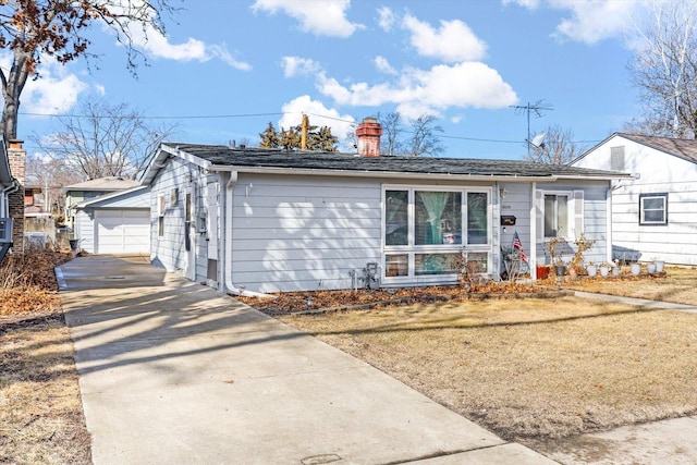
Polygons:
M428 282L429 277L455 276L463 246L488 271L489 198L489 189L386 188L386 278Z

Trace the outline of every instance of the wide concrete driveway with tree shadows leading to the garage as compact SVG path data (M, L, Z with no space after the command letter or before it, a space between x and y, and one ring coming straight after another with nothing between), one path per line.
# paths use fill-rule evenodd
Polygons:
M95 464L553 463L144 258L58 274Z

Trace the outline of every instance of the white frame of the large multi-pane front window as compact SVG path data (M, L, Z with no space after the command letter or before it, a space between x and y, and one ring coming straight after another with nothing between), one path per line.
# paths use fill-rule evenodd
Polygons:
M380 245L382 248L382 279L387 281L387 284L399 283L428 283L428 282L442 282L443 279L456 279L456 272L438 272L424 273L423 269L416 268L417 256L419 260L426 259L426 256L432 255L452 255L461 254L463 248L466 253L486 254L487 269L486 273L490 273L492 269L492 244L493 244L493 196L491 186L435 186L435 185L404 185L404 184L384 184L382 186L382 204L380 209L381 217L381 237ZM388 245L387 244L387 198L388 192L391 191L405 191L407 193L407 211L406 211L406 227L407 227L407 240L403 245ZM416 244L416 193L418 192L445 192L456 193L460 198L460 229L461 237L460 243L452 244ZM467 216L467 194L478 193L486 194L487 201L487 235L485 244L467 244L468 236L468 216ZM406 262L404 262L406 259ZM444 257L448 260L447 257ZM399 269L396 274L393 270L388 269L390 266L394 266L395 270Z

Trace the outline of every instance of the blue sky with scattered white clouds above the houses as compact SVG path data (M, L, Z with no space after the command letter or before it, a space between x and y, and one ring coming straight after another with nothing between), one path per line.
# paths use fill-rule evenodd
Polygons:
M178 3L175 3L178 4ZM552 124L591 146L638 112L626 64L633 0L195 0L150 32L133 78L103 30L101 56L66 66L45 59L22 97L19 135L46 136L50 114L80 102L126 102L179 124L176 139L258 143L277 127L351 123L378 112L437 115L444 156L519 159L527 119L512 106L542 100L533 134ZM8 57L1 60L7 68ZM40 115L37 115L40 114Z

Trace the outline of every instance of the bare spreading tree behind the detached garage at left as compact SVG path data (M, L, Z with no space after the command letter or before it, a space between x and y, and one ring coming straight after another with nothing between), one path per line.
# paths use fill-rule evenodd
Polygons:
M57 117L62 130L36 140L47 154L94 180L105 176L135 179L175 125L152 126L139 110L125 103L89 101L81 114Z

